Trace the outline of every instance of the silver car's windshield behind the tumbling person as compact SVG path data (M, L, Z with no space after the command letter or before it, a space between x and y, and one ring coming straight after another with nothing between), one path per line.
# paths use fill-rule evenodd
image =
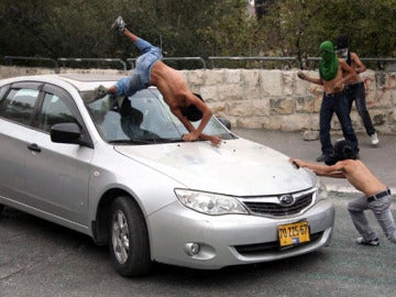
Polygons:
M182 142L183 134L188 133L155 88L141 90L131 97L113 98L107 95L89 103L87 108L100 135L108 143ZM193 122L194 127L198 124L199 121ZM223 140L234 138L213 117L204 133L218 135Z

